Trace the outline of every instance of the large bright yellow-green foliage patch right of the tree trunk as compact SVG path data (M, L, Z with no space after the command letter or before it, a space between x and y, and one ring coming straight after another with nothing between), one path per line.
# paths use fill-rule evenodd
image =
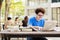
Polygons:
M9 13L13 15L15 14L16 16L24 15L24 6L22 1L14 2L14 0L11 0Z

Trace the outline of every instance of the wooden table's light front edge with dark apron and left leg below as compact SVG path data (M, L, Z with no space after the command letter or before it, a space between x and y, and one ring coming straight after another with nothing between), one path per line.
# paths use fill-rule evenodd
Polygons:
M60 37L60 32L0 32L5 40L10 40L12 37Z

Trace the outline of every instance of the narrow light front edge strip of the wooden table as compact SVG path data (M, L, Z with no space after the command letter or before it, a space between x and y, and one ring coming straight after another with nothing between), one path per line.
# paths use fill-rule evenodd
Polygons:
M60 34L60 32L0 32L0 34Z

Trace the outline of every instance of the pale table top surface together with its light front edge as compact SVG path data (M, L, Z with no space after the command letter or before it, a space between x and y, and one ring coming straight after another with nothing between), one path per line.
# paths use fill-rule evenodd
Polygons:
M15 31L14 31L15 30ZM60 31L43 30L43 31L20 31L20 30L3 30L0 34L60 34Z

